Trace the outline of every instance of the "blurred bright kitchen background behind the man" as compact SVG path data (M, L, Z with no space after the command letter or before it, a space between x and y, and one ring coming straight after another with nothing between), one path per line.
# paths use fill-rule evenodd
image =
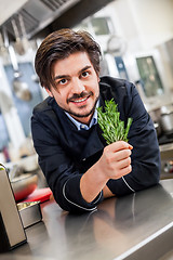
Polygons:
M173 177L173 0L0 0L0 5L1 164L38 167L30 117L46 94L35 74L35 54L48 34L72 27L99 42L102 75L136 84L156 126L161 178Z

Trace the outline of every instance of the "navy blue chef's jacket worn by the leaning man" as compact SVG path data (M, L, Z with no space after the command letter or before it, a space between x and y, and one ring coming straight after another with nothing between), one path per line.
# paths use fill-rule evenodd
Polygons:
M120 118L127 123L133 118L129 132L132 150L132 172L107 186L117 196L155 185L160 177L160 153L152 120L133 83L103 77L99 82L99 105L115 99ZM103 193L86 203L80 193L82 174L103 154L106 142L98 125L78 131L53 98L34 108L31 131L39 165L57 204L67 211L93 210L103 199ZM94 185L94 183L93 183Z

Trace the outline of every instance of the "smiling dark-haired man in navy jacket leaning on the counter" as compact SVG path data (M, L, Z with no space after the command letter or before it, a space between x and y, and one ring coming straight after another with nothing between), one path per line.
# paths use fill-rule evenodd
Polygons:
M34 144L54 198L67 211L90 211L103 198L159 181L152 121L132 83L99 78L99 57L92 37L71 29L49 35L36 54L36 72L50 96L34 109ZM97 125L96 107L112 98L121 120L133 118L129 143L106 145Z

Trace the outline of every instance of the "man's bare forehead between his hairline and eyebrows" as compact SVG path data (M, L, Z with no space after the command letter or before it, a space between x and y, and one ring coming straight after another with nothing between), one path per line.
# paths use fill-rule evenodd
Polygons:
M76 74L86 66L94 69L88 53L76 52L70 54L68 57L56 61L53 64L53 74L54 76Z

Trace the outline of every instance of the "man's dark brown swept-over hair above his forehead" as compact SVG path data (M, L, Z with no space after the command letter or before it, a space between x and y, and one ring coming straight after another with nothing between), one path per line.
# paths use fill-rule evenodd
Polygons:
M55 87L52 65L75 52L86 52L96 74L99 74L101 48L86 31L61 29L50 34L39 47L35 69L42 87Z

